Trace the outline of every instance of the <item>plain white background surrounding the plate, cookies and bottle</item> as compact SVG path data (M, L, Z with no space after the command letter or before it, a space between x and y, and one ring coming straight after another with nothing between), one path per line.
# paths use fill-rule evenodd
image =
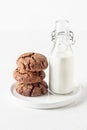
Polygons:
M34 110L10 102L9 89L17 57L28 51L49 58L54 22L67 19L75 34L75 81L87 92L87 1L86 0L0 0L0 129L1 130L87 130L87 96L80 104L56 109Z

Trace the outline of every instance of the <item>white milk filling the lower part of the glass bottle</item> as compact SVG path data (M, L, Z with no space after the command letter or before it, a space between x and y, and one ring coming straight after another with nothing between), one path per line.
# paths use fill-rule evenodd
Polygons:
M57 94L70 93L74 87L74 56L68 51L51 55L49 87Z

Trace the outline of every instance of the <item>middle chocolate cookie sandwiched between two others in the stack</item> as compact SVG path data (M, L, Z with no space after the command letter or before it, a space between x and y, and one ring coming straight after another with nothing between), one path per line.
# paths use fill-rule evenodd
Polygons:
M45 78L44 71L20 73L18 69L13 72L13 77L24 84L41 82Z

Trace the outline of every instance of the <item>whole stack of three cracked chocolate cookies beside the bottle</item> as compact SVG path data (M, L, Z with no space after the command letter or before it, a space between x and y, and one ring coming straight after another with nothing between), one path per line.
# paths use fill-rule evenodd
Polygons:
M40 96L48 92L48 85L44 81L48 67L47 58L39 53L24 53L17 59L18 68L13 77L17 80L16 91L24 96Z

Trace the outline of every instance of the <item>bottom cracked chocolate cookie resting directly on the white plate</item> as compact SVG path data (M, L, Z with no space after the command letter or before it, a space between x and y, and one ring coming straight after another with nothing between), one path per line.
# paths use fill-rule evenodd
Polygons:
M24 84L23 82L17 82L16 91L23 96L36 97L47 94L48 86L45 81L34 84Z

